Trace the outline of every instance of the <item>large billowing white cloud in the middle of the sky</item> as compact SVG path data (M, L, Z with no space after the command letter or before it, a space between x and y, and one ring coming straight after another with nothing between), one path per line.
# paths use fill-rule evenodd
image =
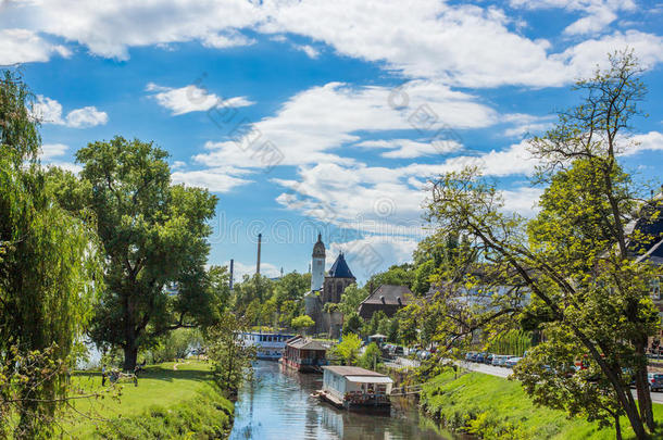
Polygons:
M406 105L401 105L403 103ZM426 113L434 116L435 125L430 130L423 129L417 117L424 111L433 112ZM205 148L210 152L198 154L193 160L208 166L260 167L254 149L271 142L278 149L280 165L350 164L353 160L339 158L334 150L360 141L356 131L403 129L426 136L426 131L435 134L445 127L445 134L436 138L435 144L435 148L443 149L454 146L447 140L448 136L453 137L451 128L486 127L496 121L496 112L478 103L474 96L437 83L415 80L400 89L329 83L296 95L276 115L253 124L239 142L208 142ZM402 154L406 151L404 149Z

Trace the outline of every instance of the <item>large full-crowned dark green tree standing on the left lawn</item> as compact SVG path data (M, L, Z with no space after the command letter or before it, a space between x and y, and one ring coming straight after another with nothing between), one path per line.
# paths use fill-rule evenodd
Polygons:
M124 350L125 369L140 348L170 330L211 324L218 309L204 268L216 197L171 185L166 158L152 142L122 137L76 153L108 266L90 334Z

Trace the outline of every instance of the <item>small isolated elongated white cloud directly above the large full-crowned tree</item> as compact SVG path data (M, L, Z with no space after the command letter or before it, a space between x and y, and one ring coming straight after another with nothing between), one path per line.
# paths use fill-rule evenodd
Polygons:
M249 101L246 97L235 97L224 100L214 93L210 93L207 89L202 89L195 85L175 89L149 83L146 90L155 92L150 95L150 97L153 98L159 105L168 109L173 115L180 115L189 112L204 112L214 106L237 108L254 104L254 102Z

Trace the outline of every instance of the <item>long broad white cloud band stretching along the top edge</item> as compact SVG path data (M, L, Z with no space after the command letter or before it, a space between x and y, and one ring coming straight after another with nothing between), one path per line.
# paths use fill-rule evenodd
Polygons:
M603 29L617 12L630 11L633 4L543 0L533 8L566 8L586 14L566 29L567 35L578 35ZM514 0L512 5L526 3ZM414 7L401 0L361 4L350 0L227 0L223 4L214 0L154 0L147 4L35 0L9 8L17 25L77 41L102 56L127 59L130 47L177 41L199 40L212 47L249 43L250 39L238 32L250 29L276 36L296 34L410 78L435 78L464 87L561 86L591 73L606 52L626 45L636 47L638 55L655 62L663 59L663 42L652 34L614 33L580 41L560 53L546 39L520 34L522 25L502 9L438 0L420 0ZM580 55L583 45L599 50Z

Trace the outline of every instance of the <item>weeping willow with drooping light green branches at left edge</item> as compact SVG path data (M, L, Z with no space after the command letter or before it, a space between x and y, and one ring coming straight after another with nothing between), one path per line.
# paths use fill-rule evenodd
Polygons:
M60 208L46 185L30 105L25 84L7 73L0 80L0 376L21 370L23 379L0 385L0 403L12 397L20 415L14 436L40 438L66 393L64 369L39 376L17 359L42 353L46 365L67 359L101 285L95 281L101 265L93 231Z

